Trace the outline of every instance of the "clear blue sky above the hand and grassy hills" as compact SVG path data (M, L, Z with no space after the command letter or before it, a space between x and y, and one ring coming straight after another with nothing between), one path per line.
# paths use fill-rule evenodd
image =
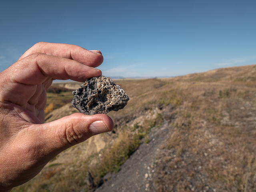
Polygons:
M98 49L104 76L256 64L255 0L3 0L0 71L37 42Z

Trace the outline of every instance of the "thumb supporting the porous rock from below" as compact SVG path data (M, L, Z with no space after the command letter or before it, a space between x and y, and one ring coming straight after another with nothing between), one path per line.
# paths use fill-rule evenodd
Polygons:
M43 126L46 154L57 155L63 150L86 141L93 135L109 132L114 123L108 115L75 113Z

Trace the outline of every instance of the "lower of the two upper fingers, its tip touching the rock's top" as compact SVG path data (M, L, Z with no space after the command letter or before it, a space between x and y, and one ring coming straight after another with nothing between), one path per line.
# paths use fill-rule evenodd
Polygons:
M102 75L99 69L78 61L43 53L33 53L17 61L5 71L12 74L10 76L12 82L26 85L43 83L48 77L84 82L88 78Z

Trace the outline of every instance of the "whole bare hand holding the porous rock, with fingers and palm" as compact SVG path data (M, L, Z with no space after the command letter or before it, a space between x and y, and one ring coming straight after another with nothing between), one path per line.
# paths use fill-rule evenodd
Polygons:
M0 73L0 192L32 179L63 150L113 129L104 114L75 113L44 123L52 81L98 77L94 67L102 61L97 50L40 42Z

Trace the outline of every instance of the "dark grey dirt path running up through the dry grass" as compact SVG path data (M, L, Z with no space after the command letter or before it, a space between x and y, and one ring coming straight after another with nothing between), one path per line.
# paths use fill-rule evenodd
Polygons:
M172 129L167 122L158 128L152 129L148 144L142 143L138 150L130 156L121 166L118 173L107 175L109 178L96 192L140 192L154 191L151 182L151 168L155 154L159 150L162 141L168 137Z

